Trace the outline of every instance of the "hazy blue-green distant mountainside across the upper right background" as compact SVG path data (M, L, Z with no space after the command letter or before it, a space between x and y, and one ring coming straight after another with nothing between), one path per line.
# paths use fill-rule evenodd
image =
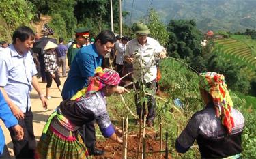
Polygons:
M133 8L132 8L132 2ZM256 28L255 0L124 0L123 10L133 11L132 23L154 8L166 24L171 19L195 19L201 31L245 31ZM130 24L130 16L126 17Z

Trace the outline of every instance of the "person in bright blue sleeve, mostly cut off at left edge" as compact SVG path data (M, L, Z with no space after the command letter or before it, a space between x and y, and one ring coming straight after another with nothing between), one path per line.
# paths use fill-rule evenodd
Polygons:
M8 104L5 102L3 95L0 91L0 118L3 120L3 123L7 128L12 128L14 132L16 132L16 139L21 140L23 139L23 128L18 125L18 120L8 107ZM9 151L5 145L5 136L3 135L3 131L0 126L0 159L1 158L10 158Z

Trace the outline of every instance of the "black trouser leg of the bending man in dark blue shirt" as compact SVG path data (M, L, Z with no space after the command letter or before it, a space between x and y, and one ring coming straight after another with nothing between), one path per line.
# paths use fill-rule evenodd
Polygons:
M85 143L85 146L87 147L89 152L91 152L94 149L96 144L96 132L94 123L95 120L79 128L79 134L82 136L83 142Z

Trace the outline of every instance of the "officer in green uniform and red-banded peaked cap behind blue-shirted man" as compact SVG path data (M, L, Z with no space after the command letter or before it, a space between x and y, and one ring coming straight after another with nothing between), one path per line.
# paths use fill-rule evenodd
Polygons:
M68 48L68 67L71 66L71 63L76 56L76 53L79 51L80 48L83 47L83 45L86 42L86 39L89 38L89 29L86 28L79 28L76 29L76 40L71 44L71 46Z

